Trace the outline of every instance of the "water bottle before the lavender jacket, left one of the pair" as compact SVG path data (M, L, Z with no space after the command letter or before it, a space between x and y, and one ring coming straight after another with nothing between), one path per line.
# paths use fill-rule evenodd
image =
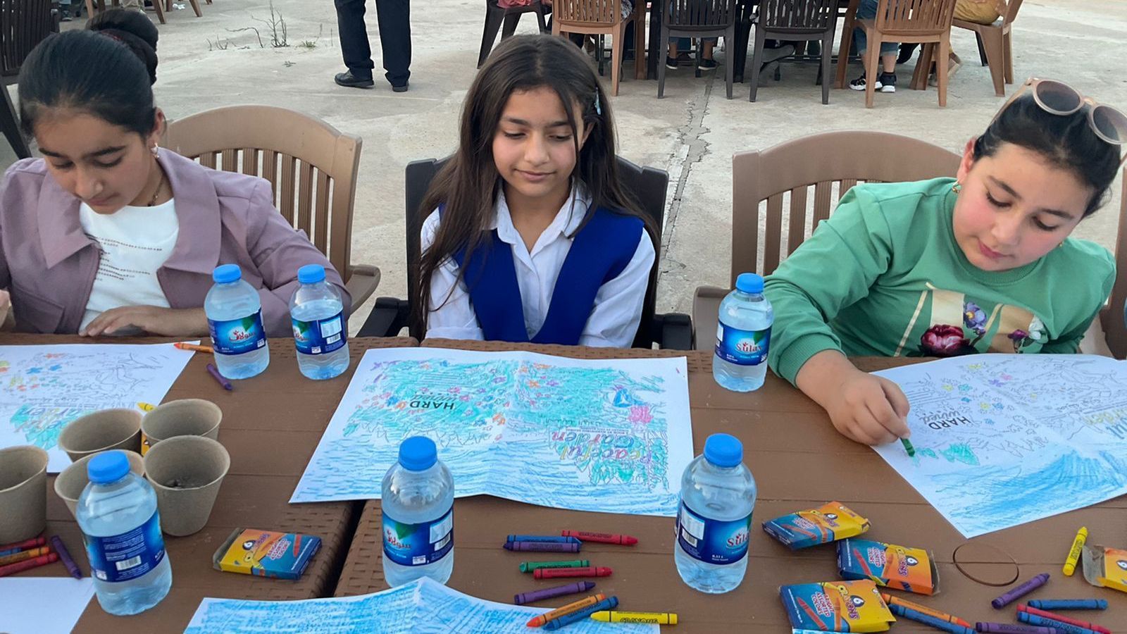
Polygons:
M215 368L229 379L249 379L270 364L258 291L242 280L238 264L212 272L215 285L204 298L204 312L215 349Z

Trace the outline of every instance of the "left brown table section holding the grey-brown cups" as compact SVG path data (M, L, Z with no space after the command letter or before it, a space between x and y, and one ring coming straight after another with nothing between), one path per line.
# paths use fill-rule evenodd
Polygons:
M81 343L70 336L3 335L0 344ZM107 342L110 340L100 340ZM112 340L114 343L154 343L171 340ZM165 536L172 562L172 589L157 607L136 616L115 617L90 601L74 632L183 632L204 597L237 599L310 599L332 592L341 560L352 539L358 502L290 504L313 449L364 350L414 346L411 338L355 338L349 342L352 366L340 377L311 381L298 371L293 342L272 340L270 364L252 379L234 381L225 391L204 366L208 354L195 354L165 400L206 398L223 410L219 440L231 454L231 469L220 490L207 526L187 537ZM212 555L237 527L298 531L321 538L321 549L299 581L263 579L220 572ZM46 535L62 537L74 562L89 574L78 525L47 482ZM21 573L64 576L62 564ZM2 618L0 618L2 620Z

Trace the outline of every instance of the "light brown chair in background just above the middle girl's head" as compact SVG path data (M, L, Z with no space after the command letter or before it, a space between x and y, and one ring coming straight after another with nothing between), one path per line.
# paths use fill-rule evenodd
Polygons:
M580 33L611 36L611 94L619 95L619 74L625 50L627 25L635 27L635 79L646 77L646 2L635 0L632 14L622 17L619 0L556 0L552 5L552 35Z

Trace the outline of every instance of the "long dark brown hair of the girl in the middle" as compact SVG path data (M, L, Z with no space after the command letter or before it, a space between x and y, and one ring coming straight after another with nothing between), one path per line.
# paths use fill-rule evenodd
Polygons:
M577 46L551 35L521 35L502 42L470 86L462 106L458 151L435 175L416 218L421 222L443 206L434 244L419 256L419 284L411 289L411 334L426 335L431 305L431 278L450 257L465 249L465 259L482 246L494 219L500 175L494 162L492 142L509 95L551 88L564 103L576 164L571 182L582 183L591 195L582 229L598 208L642 219L650 238L649 220L633 196L619 182L614 153L614 118L598 76ZM576 121L589 131L583 148ZM412 228L417 235L420 227ZM577 229L578 231L578 229ZM463 275L459 271L459 276Z

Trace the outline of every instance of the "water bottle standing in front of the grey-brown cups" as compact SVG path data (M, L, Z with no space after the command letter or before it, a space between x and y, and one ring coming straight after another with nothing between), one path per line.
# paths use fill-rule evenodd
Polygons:
M74 516L86 540L98 602L118 616L144 611L172 587L157 494L130 473L124 451L95 456L87 473L90 483L78 499Z

